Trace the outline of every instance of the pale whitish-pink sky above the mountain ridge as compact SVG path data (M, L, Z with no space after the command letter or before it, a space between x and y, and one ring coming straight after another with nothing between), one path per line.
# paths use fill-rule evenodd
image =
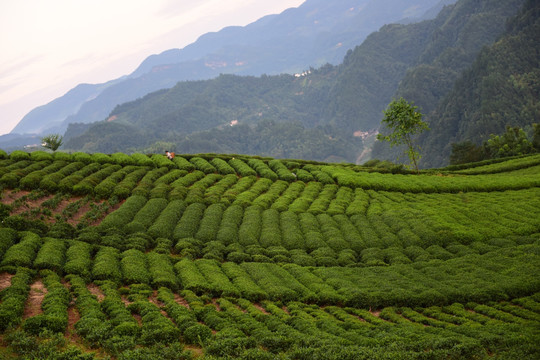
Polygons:
M0 0L0 135L80 83L304 0Z

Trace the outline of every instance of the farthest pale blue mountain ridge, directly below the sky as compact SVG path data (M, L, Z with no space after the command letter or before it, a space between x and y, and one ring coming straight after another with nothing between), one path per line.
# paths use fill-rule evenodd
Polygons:
M69 123L105 119L117 105L178 81L242 75L301 72L310 66L339 63L385 23L418 18L449 0L308 0L298 8L266 16L245 27L228 27L201 36L183 49L148 57L132 74L91 85L92 99L70 91L26 115L12 133L63 132ZM62 103L71 105L64 106Z

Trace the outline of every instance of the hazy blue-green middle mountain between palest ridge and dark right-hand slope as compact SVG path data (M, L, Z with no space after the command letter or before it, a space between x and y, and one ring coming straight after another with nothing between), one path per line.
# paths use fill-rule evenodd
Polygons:
M181 82L168 91L116 107L110 114L109 125L90 126L83 134L73 128L68 130L66 148L163 151L153 143L166 141L166 147L179 152L307 156L306 159L355 162L364 151L362 140L355 135L378 128L381 112L400 83L402 88L403 84L414 83L407 87L407 94L423 94L425 90L431 92L426 98L437 102L448 92L460 69L472 63L482 44L490 43L502 31L505 19L517 11L521 2L506 0L477 6L476 1L461 0L444 8L433 20L384 26L348 52L343 64L311 69L302 76L221 76L210 81ZM408 72L412 69L416 70ZM417 77L431 80L411 80ZM268 146L257 149L260 132L254 126L260 120L301 122L304 130L299 138L308 139L304 149L283 139L281 131L275 131L277 135L265 142ZM233 121L252 128L233 127L209 133L210 129L227 127ZM116 141L130 133L125 131L131 129L129 126L137 133L138 147L133 146L133 141L129 146ZM289 126L291 132L296 128L290 124L279 126L280 130ZM308 134L313 128L316 134ZM124 129L124 133L115 129ZM141 131L146 135L139 136ZM210 148L205 150L203 144Z

